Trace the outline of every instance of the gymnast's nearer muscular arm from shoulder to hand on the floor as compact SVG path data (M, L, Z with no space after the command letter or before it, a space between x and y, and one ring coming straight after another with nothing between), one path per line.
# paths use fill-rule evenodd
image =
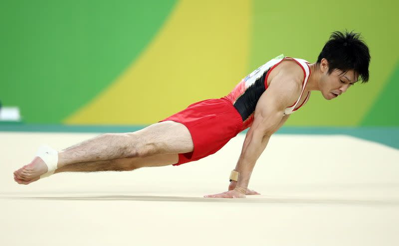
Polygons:
M227 192L204 197L243 198L249 179L260 154L266 148L271 134L278 130L288 119L284 110L298 99L304 79L302 69L295 63L282 63L281 70L271 79L267 90L258 100L254 112L254 121L248 130L235 170L239 172L238 181L231 181ZM248 190L248 194L258 194Z

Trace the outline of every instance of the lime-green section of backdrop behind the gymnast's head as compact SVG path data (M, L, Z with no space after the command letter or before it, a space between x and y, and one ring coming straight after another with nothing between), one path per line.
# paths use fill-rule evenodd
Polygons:
M325 100L320 92L313 92L309 102L285 125L361 125L395 70L399 59L399 32L392 30L395 30L394 23L399 23L398 3L391 0L330 3L253 0L253 28L257 31L253 32L251 43L251 69L281 53L316 62L335 30L361 32L370 47L368 84L357 84L331 101ZM320 11L323 7L328 8L328 16L327 12Z

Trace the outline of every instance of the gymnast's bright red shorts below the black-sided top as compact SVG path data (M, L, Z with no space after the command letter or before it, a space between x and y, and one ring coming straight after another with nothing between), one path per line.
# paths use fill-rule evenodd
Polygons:
M199 160L221 149L242 130L242 119L227 99L209 99L190 105L187 109L161 121L184 124L190 131L194 151L179 154L179 162Z

